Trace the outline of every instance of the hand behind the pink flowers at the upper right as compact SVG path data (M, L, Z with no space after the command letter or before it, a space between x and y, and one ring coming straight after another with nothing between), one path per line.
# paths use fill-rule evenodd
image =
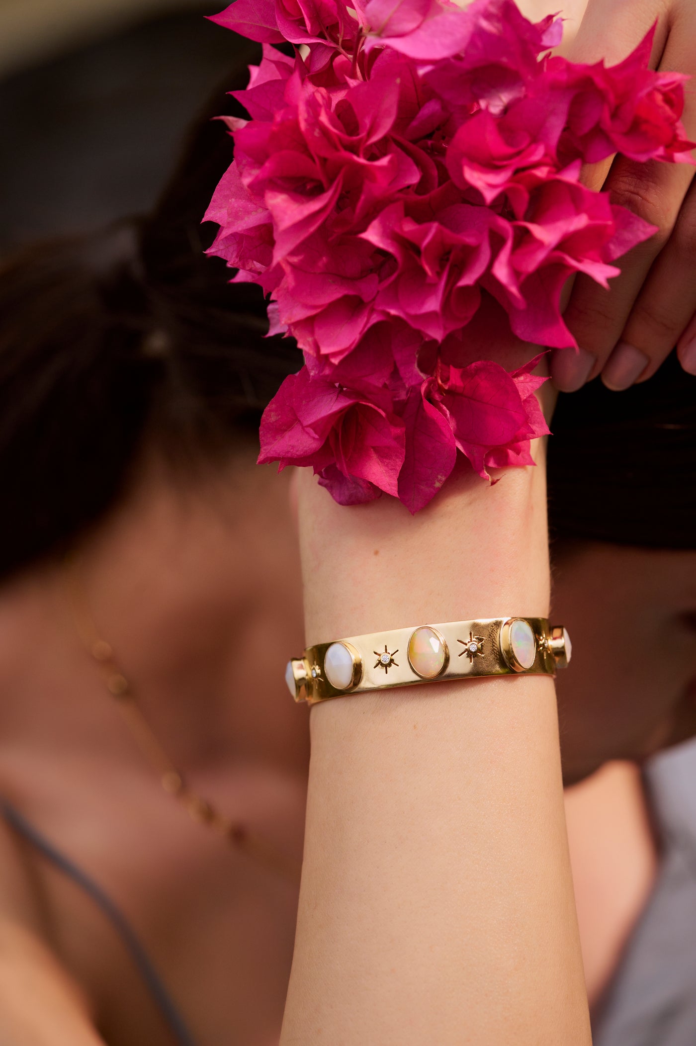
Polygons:
M654 22L651 67L694 76L694 0L588 0L575 39L563 50L575 62L604 58L614 64ZM696 79L686 85L686 95L683 123L694 140ZM585 181L592 188L610 189L615 203L637 212L658 232L622 259L622 274L611 280L609 291L587 276L576 279L565 320L580 351L554 353L552 374L561 391L575 391L600 373L616 390L647 381L675 345L681 366L696 374L695 174L696 167L688 164L643 164L625 157L586 168Z

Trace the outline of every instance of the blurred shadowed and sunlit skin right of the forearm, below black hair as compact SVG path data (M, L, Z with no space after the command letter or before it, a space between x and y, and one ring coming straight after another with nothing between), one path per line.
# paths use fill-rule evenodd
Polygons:
M564 777L592 774L566 792L566 817L593 1004L659 864L639 767L696 733L696 552L578 543L555 563L554 616L574 639L557 687Z

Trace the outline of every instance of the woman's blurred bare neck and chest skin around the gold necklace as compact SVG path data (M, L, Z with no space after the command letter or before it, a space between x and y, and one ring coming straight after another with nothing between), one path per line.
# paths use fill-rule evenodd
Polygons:
M284 682L304 645L288 486L251 452L195 482L148 462L77 569L192 787L299 861L308 731ZM64 583L49 565L0 592L0 791L120 905L198 1043L276 1046L296 884L162 791L77 639ZM102 913L4 823L0 848L0 1041L170 1046Z

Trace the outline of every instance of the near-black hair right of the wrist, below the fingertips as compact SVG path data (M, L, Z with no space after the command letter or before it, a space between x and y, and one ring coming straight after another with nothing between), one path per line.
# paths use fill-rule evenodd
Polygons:
M675 353L625 392L559 396L551 427L553 538L696 549L696 378Z

